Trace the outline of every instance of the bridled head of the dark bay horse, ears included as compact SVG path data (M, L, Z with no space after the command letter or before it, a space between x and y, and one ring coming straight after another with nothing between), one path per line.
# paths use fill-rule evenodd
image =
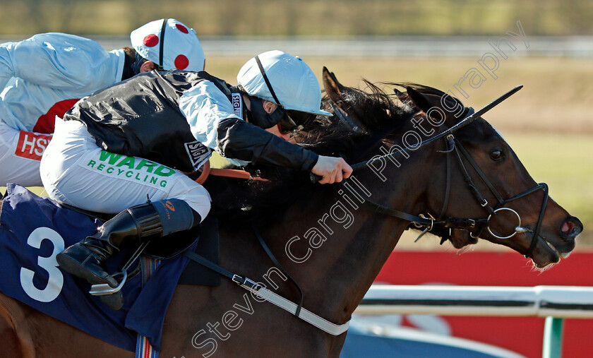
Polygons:
M359 131L376 131L365 126L369 116L394 117L393 109L385 109L388 107L384 103L376 105L376 88L372 88L374 95L369 95L367 102L359 98L354 102L352 91L360 93L359 90L341 85L326 68L323 80L330 102L337 107L334 110L342 112L337 113L339 120L359 126ZM402 133L413 131L424 142L469 114L469 108L440 90L421 85L393 85L396 87L393 102L412 110L404 111L409 113L407 124L383 126L395 130L385 138L397 138L394 134L402 138ZM405 92L397 87L405 88ZM383 101L386 98L380 97ZM340 118L340 114L345 114L342 117L347 119ZM397 115L402 117L402 112ZM377 144L390 144L392 148L409 146L385 138ZM374 153L381 155L385 151L376 148ZM393 181L404 173L415 171L414 174L423 175L424 178L417 179L417 183L424 185L423 193L409 198L410 201L420 198L422 202L413 206L416 212L412 214L433 217L435 224L431 225L431 232L450 239L456 248L473 244L480 237L531 257L539 268L558 262L574 249L575 237L582 231L581 222L548 198L547 186L537 184L529 176L501 134L484 119L479 118L450 136L430 145L419 145L408 153L406 163L400 162L402 168L407 164L413 170L405 172L393 165L382 174ZM424 171L419 169L418 162ZM389 203L392 208L409 208L408 204Z

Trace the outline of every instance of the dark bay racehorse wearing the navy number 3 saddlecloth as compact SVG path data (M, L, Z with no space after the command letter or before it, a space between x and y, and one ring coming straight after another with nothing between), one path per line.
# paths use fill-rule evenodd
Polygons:
M325 68L323 79L326 105L342 116L347 114L349 123L320 121L299 141L320 153L342 155L349 163L393 153L397 146L414 147L418 140L455 125L468 112L455 100L441 100L443 93L433 88L415 86L405 93L388 94L371 85L364 92L340 85ZM444 117L437 119L431 110ZM537 186L484 119L454 134L496 195L513 198ZM298 302L298 291L275 268L246 224L255 222L278 261L302 288L304 307L333 323L347 322L409 227L407 220L378 213L376 205L424 217L489 216L473 189L489 203L496 203L496 195L467 159L448 163L443 153L451 151L447 143L451 142L435 141L397 160L383 157L355 172L355 179L343 186L311 184L303 173L268 168L260 168L259 174L269 182L208 179L205 185L215 201L211 215L221 223L221 265ZM467 177L474 178L473 189ZM582 230L577 218L551 199L541 210L544 200L544 191L534 190L506 203L520 215L524 228L509 239L491 234L516 232L517 217L505 212L490 220L491 231L479 225L462 227L453 219L433 230L444 237L453 225L450 239L455 247L470 244L477 236L522 254L533 246L529 256L543 268L570 253ZM369 205L371 201L376 205ZM4 295L0 295L0 313L3 357L133 357L132 352ZM346 334L324 333L224 279L219 287L179 285L163 330L161 357L338 357L346 338Z

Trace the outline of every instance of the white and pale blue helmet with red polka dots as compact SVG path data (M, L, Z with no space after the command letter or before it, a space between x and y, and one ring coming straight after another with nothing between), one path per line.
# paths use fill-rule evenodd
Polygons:
M130 34L140 56L164 70L203 71L205 56L196 31L174 18L151 21Z

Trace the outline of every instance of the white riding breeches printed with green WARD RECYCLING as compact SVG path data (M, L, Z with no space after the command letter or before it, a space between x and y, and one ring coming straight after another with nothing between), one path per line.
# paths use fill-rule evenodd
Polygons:
M50 198L85 210L119 213L147 198L177 198L202 220L210 211L210 194L196 181L156 162L102 150L80 121L56 119L40 172Z

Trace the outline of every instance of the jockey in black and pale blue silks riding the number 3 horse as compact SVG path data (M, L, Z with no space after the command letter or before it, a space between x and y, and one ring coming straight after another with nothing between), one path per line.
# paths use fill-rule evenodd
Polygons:
M235 165L310 170L323 177L322 184L349 177L352 168L342 158L287 141L313 117L331 116L320 109L318 80L302 59L265 52L247 61L237 82L232 87L204 71L142 73L56 119L41 161L48 195L85 210L121 211L59 253L61 268L116 287L104 261L122 246L138 247L199 225L210 210L210 195L179 171L197 169L212 149Z

